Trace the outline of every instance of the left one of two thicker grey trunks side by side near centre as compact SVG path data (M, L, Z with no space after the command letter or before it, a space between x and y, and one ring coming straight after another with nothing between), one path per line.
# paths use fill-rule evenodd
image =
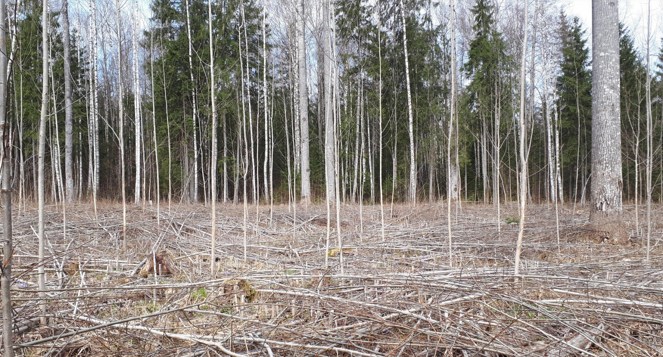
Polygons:
M301 161L302 161L302 201L311 203L311 168L308 135L308 86L306 85L306 17L304 13L304 0L297 0L297 68L299 91L299 127L301 132Z

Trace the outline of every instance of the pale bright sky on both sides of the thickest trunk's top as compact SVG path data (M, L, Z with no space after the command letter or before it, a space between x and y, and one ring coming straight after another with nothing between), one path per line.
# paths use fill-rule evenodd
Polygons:
M591 43L591 0L566 0L564 9L569 15L580 18ZM619 19L634 35L638 51L644 54L647 39L647 7L650 5L650 55L656 56L663 37L663 0L620 0ZM652 58L654 61L654 58Z

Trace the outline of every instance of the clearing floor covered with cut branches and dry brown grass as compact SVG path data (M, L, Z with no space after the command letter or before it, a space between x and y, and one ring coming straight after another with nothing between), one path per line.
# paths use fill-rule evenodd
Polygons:
M156 206L129 207L126 250L120 204L101 202L96 214L91 204L67 206L66 230L62 206L48 206L48 291L39 300L36 208L15 207L15 348L19 356L663 355L663 206L652 213L646 260L642 206L625 206L631 240L611 245L583 235L585 207L567 204L557 217L554 206L530 205L514 278L516 210L454 205L450 264L446 202L385 205L384 235L379 206L343 204L341 262L335 214L326 255L324 205L296 214L251 205L245 223L243 205L224 204L212 275L203 204L161 204L160 221ZM174 274L154 276L154 251L167 251L158 270Z

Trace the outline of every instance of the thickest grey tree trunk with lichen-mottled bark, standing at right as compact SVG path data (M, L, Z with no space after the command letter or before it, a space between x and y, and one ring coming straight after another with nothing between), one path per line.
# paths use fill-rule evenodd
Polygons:
M591 208L601 238L623 241L619 121L619 2L592 1Z

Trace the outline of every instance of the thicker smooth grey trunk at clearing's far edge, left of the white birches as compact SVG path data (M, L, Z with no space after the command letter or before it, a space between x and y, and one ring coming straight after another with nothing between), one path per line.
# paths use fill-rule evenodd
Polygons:
M74 202L74 123L72 108L72 70L69 35L69 4L62 1L62 44L64 46L64 177L66 200Z

